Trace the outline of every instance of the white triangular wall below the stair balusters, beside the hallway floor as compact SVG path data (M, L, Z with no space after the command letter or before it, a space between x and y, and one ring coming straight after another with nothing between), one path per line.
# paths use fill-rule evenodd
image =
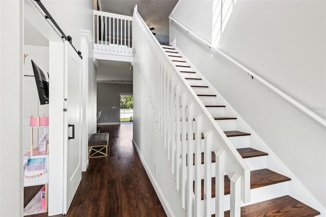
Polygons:
M186 216L138 63L133 65L133 142L167 215Z

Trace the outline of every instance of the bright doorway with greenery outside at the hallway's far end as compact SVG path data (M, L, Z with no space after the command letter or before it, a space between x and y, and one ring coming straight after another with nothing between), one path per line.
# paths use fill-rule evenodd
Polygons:
M120 122L133 122L132 93L120 93Z

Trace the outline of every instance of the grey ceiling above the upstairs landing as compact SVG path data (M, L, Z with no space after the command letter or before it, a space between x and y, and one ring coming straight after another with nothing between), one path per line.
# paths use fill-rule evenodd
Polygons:
M160 43L169 43L169 15L178 0L99 0L102 11L132 16L137 5L138 13L149 28L155 28Z

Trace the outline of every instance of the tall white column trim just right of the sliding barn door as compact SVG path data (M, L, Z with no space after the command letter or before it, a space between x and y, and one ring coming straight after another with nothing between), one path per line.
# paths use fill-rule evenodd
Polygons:
M82 60L82 171L85 172L89 165L88 160L88 52L89 45L93 42L92 33L89 30L80 30L80 34L82 37L80 51L82 52L83 60Z

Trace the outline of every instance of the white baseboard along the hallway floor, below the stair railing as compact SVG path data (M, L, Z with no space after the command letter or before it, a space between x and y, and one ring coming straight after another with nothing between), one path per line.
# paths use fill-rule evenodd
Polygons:
M161 202L161 204L162 204L162 206L163 206L164 211L166 212L166 214L167 214L168 216L175 216L175 215L173 214L172 209L171 209L171 207L169 206L169 204L168 204L166 198L164 197L164 195L163 195L161 189L159 188L159 186L158 186L158 184L157 184L157 182L156 182L156 180L155 180L155 178L154 178L152 172L150 171L148 165L146 164L146 161L145 161L145 159L144 159L142 153L141 153L140 150L138 149L138 146L137 146L136 142L135 142L133 139L132 139L132 144L133 144L133 147L136 149L139 158L140 158L141 161L142 161L142 164L143 164L143 166L144 166L144 168L145 168L145 171L146 171L146 173L147 173L147 175L148 175L148 177L149 177L149 179L150 179L150 181L151 181L151 183L152 183L152 185L153 185L153 187L154 187L154 190L155 190L155 192L156 192L156 194L157 194L157 197L158 197L159 201Z

